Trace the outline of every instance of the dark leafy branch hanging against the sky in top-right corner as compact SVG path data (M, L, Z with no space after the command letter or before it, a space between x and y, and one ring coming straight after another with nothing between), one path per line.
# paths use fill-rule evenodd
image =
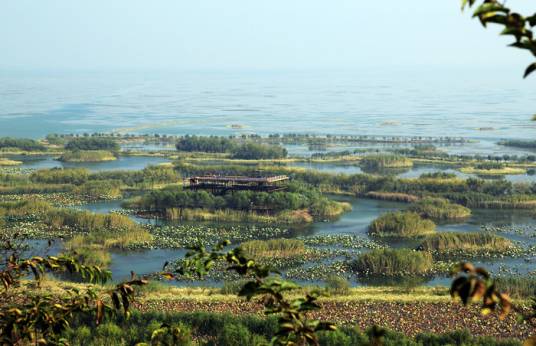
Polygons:
M467 5L472 7L480 2L477 0L462 0L462 9ZM536 26L536 14L523 16L497 0L486 0L474 10L473 17L478 17L484 27L489 23L503 26L504 29L501 31L501 35L513 36L515 39L510 44L510 47L528 50L536 57L536 39L533 37L532 32L532 27ZM524 77L527 77L535 70L536 62L526 68Z

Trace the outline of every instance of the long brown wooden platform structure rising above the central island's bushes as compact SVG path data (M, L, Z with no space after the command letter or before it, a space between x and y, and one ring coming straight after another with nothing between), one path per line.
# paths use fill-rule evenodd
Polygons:
M288 180L289 177L286 175L270 177L204 175L185 179L183 184L192 190L210 190L213 193L234 190L274 192L285 190L285 182Z

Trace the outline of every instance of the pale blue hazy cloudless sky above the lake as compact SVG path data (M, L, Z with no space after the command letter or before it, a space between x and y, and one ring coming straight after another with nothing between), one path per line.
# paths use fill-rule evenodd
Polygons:
M526 6L531 1L511 1ZM458 0L2 0L0 68L519 70ZM517 70L516 70L517 71Z

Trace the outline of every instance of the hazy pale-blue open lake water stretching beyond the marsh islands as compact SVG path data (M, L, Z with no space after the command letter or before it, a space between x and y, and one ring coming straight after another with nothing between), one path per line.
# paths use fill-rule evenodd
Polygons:
M534 138L536 83L497 74L1 72L0 136L123 131ZM536 79L534 77L533 79ZM231 125L242 128L231 128ZM485 129L478 129L485 128Z

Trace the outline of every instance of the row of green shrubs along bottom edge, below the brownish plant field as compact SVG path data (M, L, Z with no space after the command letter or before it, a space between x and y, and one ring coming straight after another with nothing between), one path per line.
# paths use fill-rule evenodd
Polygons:
M64 334L71 345L135 345L148 342L154 330L164 323L179 326L191 333L197 340L209 339L209 344L218 346L263 345L267 344L277 328L277 319L262 318L255 315L234 316L207 312L173 312L158 313L137 311L132 312L129 319L119 317L114 323L106 323L105 327L94 327L89 320L75 320ZM103 325L104 326L104 325ZM464 345L464 346L520 346L515 340L500 340L477 337L468 331L452 331L445 334L418 334L406 336L385 330L380 340L374 339L372 329L361 331L357 327L341 327L337 331L319 332L321 346L370 346L370 345ZM108 339L104 339L108 338ZM376 343L374 343L376 341ZM378 343L381 341L381 343ZM189 345L185 340L185 345ZM205 344L202 341L200 344Z

